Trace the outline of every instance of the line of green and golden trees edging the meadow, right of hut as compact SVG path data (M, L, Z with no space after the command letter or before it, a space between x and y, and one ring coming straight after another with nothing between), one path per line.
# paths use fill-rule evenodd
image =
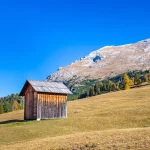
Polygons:
M113 91L129 90L132 87L141 86L143 82L150 84L150 70L128 72L104 81L97 80L89 88L79 88L80 94L78 96L73 95L72 99L82 99Z

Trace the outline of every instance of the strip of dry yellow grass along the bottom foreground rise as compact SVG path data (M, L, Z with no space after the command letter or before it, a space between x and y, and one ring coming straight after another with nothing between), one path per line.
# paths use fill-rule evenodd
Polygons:
M3 146L3 150L27 149L148 149L150 148L150 128L113 129L46 137Z

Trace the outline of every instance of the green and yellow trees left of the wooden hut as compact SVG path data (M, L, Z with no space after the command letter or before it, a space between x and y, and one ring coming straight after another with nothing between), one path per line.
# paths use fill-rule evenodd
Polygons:
M21 110L24 107L24 99L18 94L11 94L0 98L0 114Z

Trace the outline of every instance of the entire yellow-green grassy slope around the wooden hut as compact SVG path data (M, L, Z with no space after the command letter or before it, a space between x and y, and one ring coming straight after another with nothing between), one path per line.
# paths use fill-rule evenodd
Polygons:
M69 102L68 119L0 124L0 149L148 149L149 91L147 86ZM0 115L3 122L13 119L23 119L23 111Z

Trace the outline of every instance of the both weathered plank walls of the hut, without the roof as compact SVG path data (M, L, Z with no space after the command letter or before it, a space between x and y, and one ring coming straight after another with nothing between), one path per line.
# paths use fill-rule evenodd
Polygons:
M49 119L67 117L67 95L37 93L31 85L25 92L24 119Z

